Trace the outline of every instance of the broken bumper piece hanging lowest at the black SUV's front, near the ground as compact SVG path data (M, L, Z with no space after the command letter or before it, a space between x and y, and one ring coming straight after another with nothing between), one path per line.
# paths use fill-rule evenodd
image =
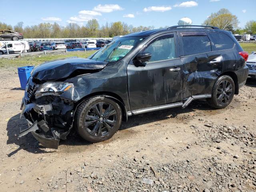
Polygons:
M29 128L24 130L20 129L19 138L31 132L34 138L36 138L36 140L38 140L38 142L40 142L43 146L46 146L47 148L58 149L60 141L59 139L37 133L40 128L44 128L44 125L44 120L41 120L40 122L35 121ZM40 126L40 128L38 126Z

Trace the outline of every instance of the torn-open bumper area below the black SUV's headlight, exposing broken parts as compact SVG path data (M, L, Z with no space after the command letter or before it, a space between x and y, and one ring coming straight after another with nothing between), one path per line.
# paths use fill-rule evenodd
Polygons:
M73 127L74 101L56 94L46 94L33 102L23 99L22 113L29 127L20 128L19 137L29 132L47 148L58 149Z

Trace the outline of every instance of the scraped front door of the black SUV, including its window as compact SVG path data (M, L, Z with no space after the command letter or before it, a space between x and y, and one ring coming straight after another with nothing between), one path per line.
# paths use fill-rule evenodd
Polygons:
M128 91L132 111L181 100L183 66L176 34L152 39L141 51L150 52L145 66L128 64Z

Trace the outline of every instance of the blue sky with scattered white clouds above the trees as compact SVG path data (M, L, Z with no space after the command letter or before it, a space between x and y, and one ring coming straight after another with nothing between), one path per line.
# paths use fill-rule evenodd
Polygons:
M6 4L0 0L0 4ZM134 26L172 26L182 17L202 22L212 12L227 8L238 17L239 26L256 19L256 0L11 0L0 12L0 22L24 26L56 21L61 26L69 22L86 25L96 18L100 25L122 21ZM12 6L15 5L15 6ZM244 5L244 6L243 6Z

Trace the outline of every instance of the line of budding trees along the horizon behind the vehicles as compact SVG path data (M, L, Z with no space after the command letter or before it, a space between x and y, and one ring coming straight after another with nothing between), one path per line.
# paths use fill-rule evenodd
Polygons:
M256 34L256 20L246 22L244 28L238 27L239 21L236 15L227 9L220 9L212 13L202 25L217 26L223 30L229 30L233 34ZM168 26L161 27L167 28ZM18 22L15 26L0 22L0 30L14 30L24 35L24 38L79 38L79 37L113 37L126 35L142 30L152 30L154 26L132 26L124 22L106 22L100 26L96 19L88 20L85 26L76 23L69 23L67 26L60 26L58 23L40 23L33 26L24 26Z

